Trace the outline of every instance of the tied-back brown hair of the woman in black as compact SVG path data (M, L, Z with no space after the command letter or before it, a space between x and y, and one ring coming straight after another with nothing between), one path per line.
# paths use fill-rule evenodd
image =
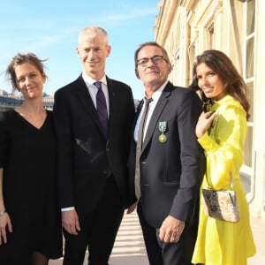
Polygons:
M15 73L15 68L21 64L30 63L33 64L41 74L44 74L44 64L43 62L47 61L47 59L41 60L34 55L32 52L28 52L26 54L18 53L15 57L12 58L11 63L6 68L6 79L11 80L12 92L18 89L18 82Z

